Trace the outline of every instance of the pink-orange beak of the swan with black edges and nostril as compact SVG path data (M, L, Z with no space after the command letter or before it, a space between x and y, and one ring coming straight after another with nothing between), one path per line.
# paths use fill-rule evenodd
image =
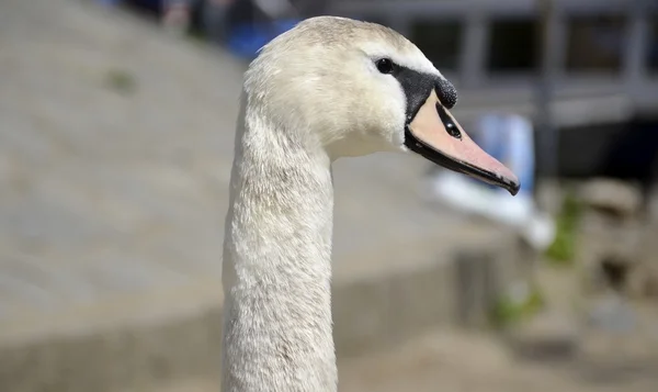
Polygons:
M521 188L510 169L468 137L433 90L407 124L405 145L438 165L507 189L512 195Z

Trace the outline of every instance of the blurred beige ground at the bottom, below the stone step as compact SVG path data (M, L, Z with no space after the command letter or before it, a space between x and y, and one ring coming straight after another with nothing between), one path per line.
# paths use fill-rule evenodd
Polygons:
M608 354L612 355L610 347ZM345 360L341 392L650 392L658 388L658 358L566 362L517 359L496 338L440 331L394 350ZM212 392L212 380L185 380L122 392Z

